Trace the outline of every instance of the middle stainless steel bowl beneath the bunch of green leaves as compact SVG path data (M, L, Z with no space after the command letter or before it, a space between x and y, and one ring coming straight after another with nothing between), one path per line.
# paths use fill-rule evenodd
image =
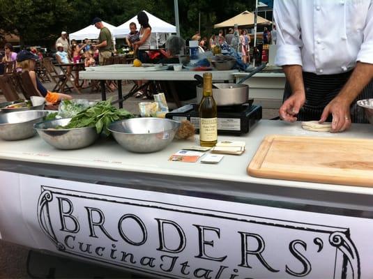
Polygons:
M69 122L70 118L56 119L36 123L33 128L45 142L56 149L81 149L97 140L99 135L95 127L56 129L58 126L66 126Z

